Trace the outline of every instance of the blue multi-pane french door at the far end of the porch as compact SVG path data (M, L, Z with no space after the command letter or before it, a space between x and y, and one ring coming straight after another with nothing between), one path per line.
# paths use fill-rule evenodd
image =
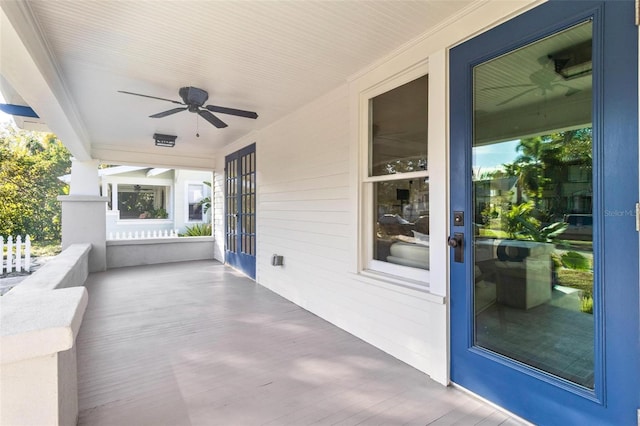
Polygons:
M225 259L256 278L256 145L225 157Z

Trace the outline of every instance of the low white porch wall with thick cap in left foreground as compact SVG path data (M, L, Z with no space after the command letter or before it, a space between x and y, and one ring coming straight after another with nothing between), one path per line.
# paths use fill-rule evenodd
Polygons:
M0 297L0 424L76 425L75 340L91 244L72 244Z

